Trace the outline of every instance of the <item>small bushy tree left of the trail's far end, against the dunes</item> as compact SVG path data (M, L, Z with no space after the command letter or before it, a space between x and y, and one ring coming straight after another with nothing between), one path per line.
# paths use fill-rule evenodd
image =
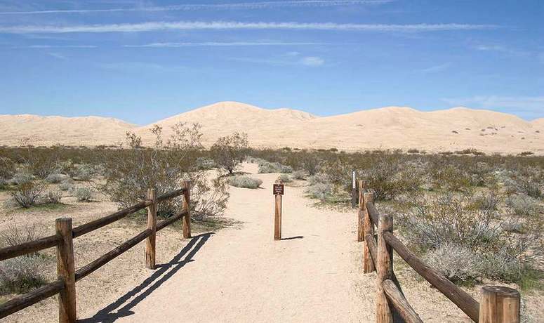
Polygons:
M220 137L210 152L215 164L232 174L248 155L248 136L235 132L231 136Z

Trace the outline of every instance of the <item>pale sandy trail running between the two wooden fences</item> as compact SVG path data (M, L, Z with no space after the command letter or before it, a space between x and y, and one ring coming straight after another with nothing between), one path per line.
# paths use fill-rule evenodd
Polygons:
M241 225L185 240L173 261L82 322L371 321L374 278L360 274L354 213L316 209L303 187L286 187L286 239L274 242L277 174L254 176L263 189L230 188L226 216Z

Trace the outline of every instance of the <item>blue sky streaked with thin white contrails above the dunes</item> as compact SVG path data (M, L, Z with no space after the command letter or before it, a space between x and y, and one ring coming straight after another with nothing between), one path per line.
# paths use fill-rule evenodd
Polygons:
M544 117L544 1L0 0L0 114L150 124L240 101Z

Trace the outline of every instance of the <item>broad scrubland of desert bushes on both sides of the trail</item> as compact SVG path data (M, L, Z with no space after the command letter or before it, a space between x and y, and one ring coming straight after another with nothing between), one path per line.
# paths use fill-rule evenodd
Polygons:
M255 150L239 133L220 138L207 150L196 126L178 124L168 138L161 128L152 133L153 147L142 147L133 134L117 147L1 147L2 246L51 234L59 216L74 218L74 225L86 223L145 199L149 187L161 194L183 180L192 180L192 221L215 230L228 223L221 216L230 185L258 190L263 183L243 172L244 161L256 164L259 174L279 173L287 185L303 186L315 208L353 216L349 204L356 171L374 192L380 212L394 216L395 233L433 268L471 291L481 284L514 286L522 291L522 300L529 299L524 303L530 309L524 311L527 322L542 315L535 304L544 299L544 157L476 150ZM173 215L180 205L180 199L161 204L159 216ZM145 215L137 213L77 240L77 261L92 261L142 225ZM175 230L161 233L164 242L157 244L166 259L181 239ZM131 275L110 268L82 284L104 291L100 282L114 278L131 284L145 277L143 266L131 263L142 261L140 253L128 255L117 269ZM46 250L0 262L1 297L6 300L54 279L54 259L54 250ZM401 259L394 261L405 279L425 285ZM25 311L35 315L39 310Z

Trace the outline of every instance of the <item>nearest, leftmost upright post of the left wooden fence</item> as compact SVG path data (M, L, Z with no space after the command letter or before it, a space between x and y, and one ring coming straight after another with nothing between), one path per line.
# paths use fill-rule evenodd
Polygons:
M58 322L72 323L77 317L72 218L56 219L55 231L62 238L57 245L57 277L65 284L58 294Z

